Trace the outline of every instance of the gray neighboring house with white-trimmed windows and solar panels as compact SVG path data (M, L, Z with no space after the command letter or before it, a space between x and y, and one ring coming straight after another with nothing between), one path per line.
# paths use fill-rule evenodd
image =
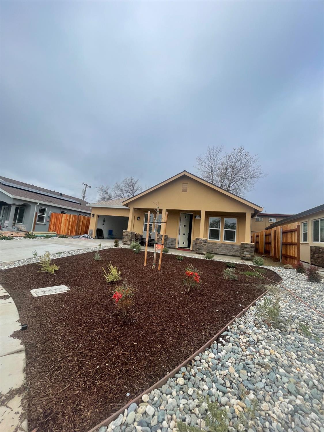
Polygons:
M5 229L48 231L51 213L90 216L86 204L81 198L0 177L0 225Z

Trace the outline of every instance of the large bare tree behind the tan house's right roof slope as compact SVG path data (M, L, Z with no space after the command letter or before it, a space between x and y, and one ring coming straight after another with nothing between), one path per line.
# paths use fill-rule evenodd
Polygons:
M222 150L208 147L206 154L196 159L197 168L205 180L233 194L244 195L258 178L264 177L257 155L251 155L244 147L236 147L221 156L219 149ZM216 153L217 160L212 157Z

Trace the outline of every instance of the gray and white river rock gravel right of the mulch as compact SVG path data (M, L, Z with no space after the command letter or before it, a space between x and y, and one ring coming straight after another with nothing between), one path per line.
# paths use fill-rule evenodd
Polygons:
M324 432L324 285L294 269L267 268L318 312L283 288L269 292L270 300L280 297L283 327L264 322L263 297L210 349L100 432L176 432L178 420L208 430L207 397L226 410L231 432Z

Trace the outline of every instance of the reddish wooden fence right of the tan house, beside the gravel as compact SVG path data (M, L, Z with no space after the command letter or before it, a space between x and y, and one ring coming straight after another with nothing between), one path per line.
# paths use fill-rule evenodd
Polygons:
M289 223L263 229L251 235L255 251L283 264L296 264L300 259L300 226Z

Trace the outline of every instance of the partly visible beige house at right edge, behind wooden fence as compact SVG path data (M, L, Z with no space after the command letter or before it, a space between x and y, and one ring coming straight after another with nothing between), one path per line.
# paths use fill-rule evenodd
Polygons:
M300 229L300 260L324 267L324 204L267 226L297 222Z

